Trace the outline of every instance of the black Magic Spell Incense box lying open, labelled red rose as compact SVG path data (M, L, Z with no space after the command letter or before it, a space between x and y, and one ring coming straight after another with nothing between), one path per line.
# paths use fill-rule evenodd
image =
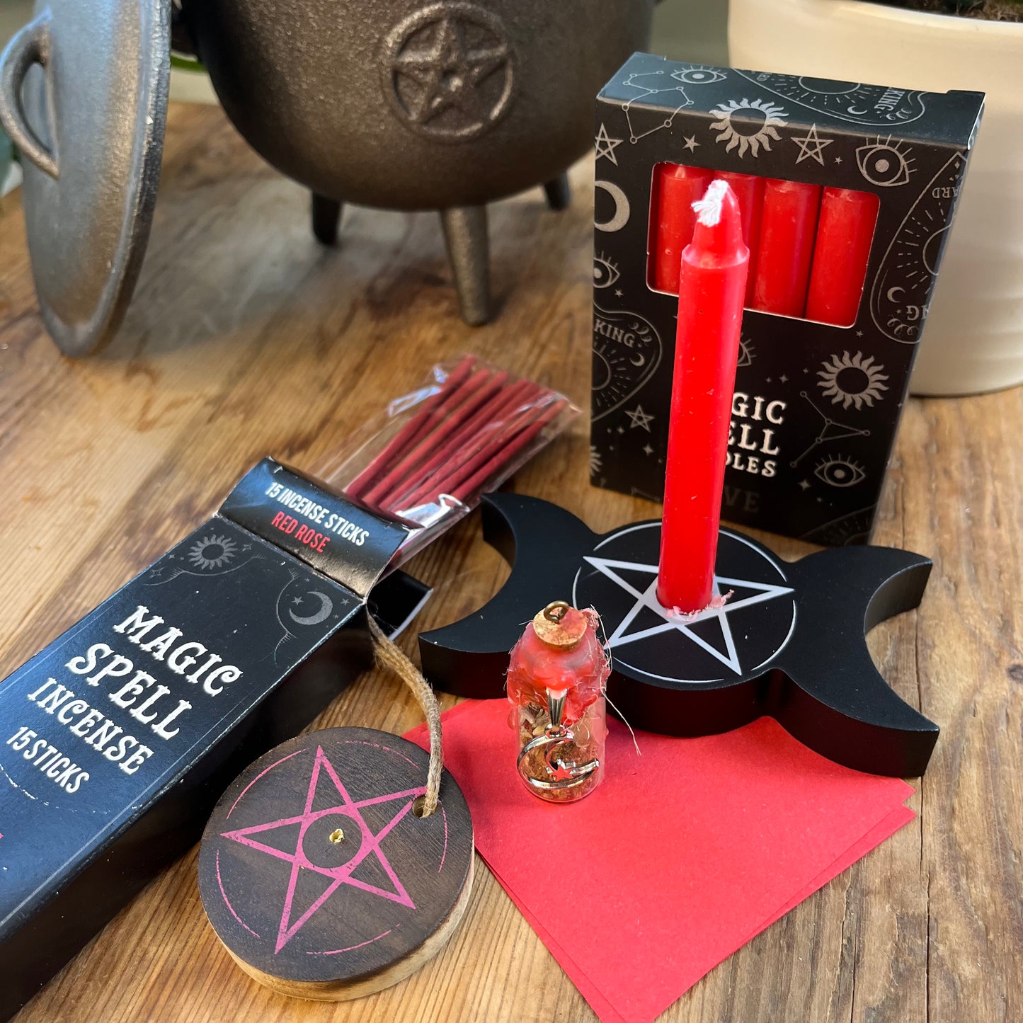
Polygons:
M0 1018L202 835L429 596L407 530L265 459L0 683ZM383 579L383 581L382 581Z

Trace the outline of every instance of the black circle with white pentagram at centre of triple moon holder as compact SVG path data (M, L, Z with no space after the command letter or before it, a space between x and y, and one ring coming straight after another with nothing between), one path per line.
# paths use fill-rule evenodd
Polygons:
M723 562L719 550L718 565L738 571L735 576L715 575L718 599L706 611L683 616L657 598L659 542L659 523L627 527L584 555L584 568L576 574L573 599L596 607L619 667L669 682L729 682L750 677L785 648L796 622L794 590L762 548L738 534L722 533L722 545L731 549ZM615 557L626 550L634 560ZM736 551L741 554L738 561ZM729 591L729 598L720 599ZM781 603L769 613L766 627L763 614L747 614L747 609L770 602ZM754 619L760 626L751 638ZM667 664L678 665L677 674L664 673L665 657Z

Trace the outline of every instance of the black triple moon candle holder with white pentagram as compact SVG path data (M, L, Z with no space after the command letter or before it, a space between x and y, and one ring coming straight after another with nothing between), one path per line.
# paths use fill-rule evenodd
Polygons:
M837 763L910 777L927 767L938 727L885 682L865 634L919 606L931 562L894 547L838 547L782 562L722 529L720 606L676 616L657 599L659 520L592 532L535 497L483 502L484 538L511 565L468 618L419 636L439 688L504 695L508 651L552 599L594 607L613 658L608 697L633 727L669 736L727 731L764 714Z

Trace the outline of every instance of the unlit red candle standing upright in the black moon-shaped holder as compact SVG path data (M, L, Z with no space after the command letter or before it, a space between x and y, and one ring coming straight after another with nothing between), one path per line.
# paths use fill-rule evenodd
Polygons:
M681 260L657 582L661 605L685 614L703 611L714 591L750 262L739 199L728 183L713 181L695 207L697 226Z

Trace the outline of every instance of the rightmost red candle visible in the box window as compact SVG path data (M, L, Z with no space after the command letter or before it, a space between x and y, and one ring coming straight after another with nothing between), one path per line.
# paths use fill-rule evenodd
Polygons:
M873 192L825 189L806 293L807 319L838 326L855 321L879 205Z

